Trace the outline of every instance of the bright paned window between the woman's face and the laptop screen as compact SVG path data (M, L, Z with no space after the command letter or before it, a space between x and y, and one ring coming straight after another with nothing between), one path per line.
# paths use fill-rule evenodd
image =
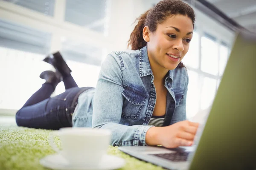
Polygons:
M183 59L189 74L188 119L212 104L229 53L228 45L211 34L198 34L196 31L193 34L189 51Z

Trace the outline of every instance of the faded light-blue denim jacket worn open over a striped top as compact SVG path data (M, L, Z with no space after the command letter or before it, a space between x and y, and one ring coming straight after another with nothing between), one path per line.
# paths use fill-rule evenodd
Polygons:
M136 51L112 52L102 64L96 88L79 96L73 126L109 129L113 146L145 146L145 134L152 127L148 122L156 104L153 81L146 46ZM163 126L186 119L188 82L186 68L169 71Z

